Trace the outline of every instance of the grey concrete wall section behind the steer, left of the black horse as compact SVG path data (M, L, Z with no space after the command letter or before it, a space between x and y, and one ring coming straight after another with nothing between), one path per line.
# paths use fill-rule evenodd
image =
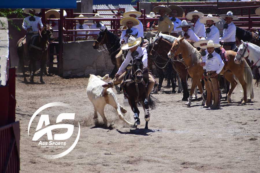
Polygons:
M63 44L63 77L110 74L114 69L106 51L93 49L94 41Z

